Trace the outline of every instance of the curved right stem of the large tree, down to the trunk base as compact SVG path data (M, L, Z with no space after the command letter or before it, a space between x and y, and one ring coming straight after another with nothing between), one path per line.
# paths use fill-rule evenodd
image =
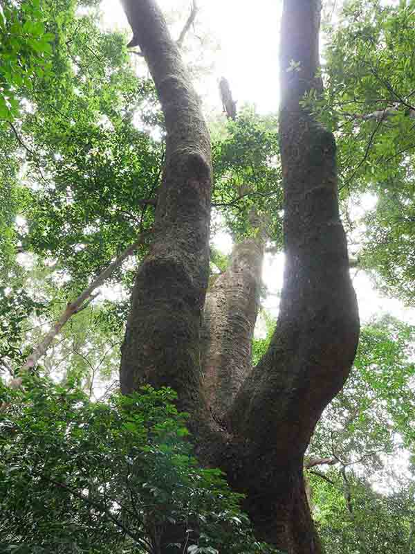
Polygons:
M349 374L358 310L338 211L335 141L301 106L320 90L320 2L286 0L282 18L279 129L286 268L270 348L229 413L244 438L232 483L262 538L289 553L320 552L302 478L322 410ZM295 64L293 64L295 62ZM293 69L297 66L297 69Z

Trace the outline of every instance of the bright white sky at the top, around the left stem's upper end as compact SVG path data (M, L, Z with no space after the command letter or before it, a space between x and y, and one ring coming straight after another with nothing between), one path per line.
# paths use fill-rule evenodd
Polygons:
M191 0L160 0L158 4L167 12L177 8L183 13L181 25L172 29L172 35L178 35ZM196 34L199 30L208 33L219 44L212 78L204 80L202 92L220 107L217 81L223 76L239 105L250 102L261 113L277 111L279 0L257 0L255 9L241 0L198 0L197 4ZM129 29L118 1L103 0L101 6L105 27Z

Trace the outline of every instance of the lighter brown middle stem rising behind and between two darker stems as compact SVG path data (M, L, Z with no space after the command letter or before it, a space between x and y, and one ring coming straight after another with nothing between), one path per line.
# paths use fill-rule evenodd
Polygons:
M259 310L264 243L236 244L228 269L205 302L203 391L213 417L224 423L241 384L252 368L252 337Z

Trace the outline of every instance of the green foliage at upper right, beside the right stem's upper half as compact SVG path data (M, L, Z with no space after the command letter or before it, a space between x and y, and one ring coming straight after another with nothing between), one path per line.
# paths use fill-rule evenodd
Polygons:
M359 264L414 304L415 4L353 0L326 26L324 98L308 98L338 143L340 195L374 195ZM344 208L347 209L346 202ZM353 223L351 224L353 227Z

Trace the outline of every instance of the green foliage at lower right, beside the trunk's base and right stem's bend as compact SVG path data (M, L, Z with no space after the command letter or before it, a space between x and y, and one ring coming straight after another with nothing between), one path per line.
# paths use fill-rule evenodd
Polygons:
M390 316L362 328L351 377L317 424L309 452L334 465L307 476L327 552L415 552L415 483L398 463L415 447L414 333Z

